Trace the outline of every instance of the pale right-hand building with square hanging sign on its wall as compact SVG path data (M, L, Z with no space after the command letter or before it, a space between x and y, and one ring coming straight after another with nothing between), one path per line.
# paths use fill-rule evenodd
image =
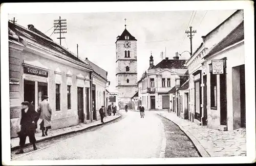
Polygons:
M243 10L234 12L202 40L186 63L189 120L211 129L245 127Z

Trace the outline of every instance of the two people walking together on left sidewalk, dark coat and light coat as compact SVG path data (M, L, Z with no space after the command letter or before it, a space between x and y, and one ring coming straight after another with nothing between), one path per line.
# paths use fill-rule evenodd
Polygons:
M35 131L39 121L42 136L48 135L47 131L51 128L52 109L48 102L48 96L42 96L42 101L39 103L37 111L35 110L33 101L22 102L21 111L22 117L20 119L20 131L17 132L19 137L19 151L15 154L24 153L23 148L25 146L27 136L29 137L29 142L33 145L33 149L37 150L35 145Z

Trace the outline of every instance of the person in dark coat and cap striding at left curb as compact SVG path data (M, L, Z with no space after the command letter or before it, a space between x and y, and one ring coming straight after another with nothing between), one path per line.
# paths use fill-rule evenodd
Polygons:
M19 136L19 151L15 154L24 153L23 148L26 143L27 136L29 137L29 142L33 144L34 150L36 150L35 146L35 118L36 112L35 109L32 109L28 101L22 102L22 117L20 119L20 131L17 132Z

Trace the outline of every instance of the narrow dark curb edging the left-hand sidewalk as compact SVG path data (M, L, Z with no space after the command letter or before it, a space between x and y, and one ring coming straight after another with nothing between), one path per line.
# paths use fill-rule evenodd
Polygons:
M87 127L87 128L78 129L78 130L75 130L75 131L69 131L69 132L65 132L65 133L61 133L61 134L57 134L57 135L45 137L44 139L41 139L41 140L36 141L36 143L44 142L44 141L46 141L46 140L56 139L57 137L60 137L60 136L63 136L63 135L73 134L73 133L76 133L76 132L80 132L80 131L84 131L84 130L91 129L91 128L93 128L93 127L101 126L101 125L103 125L103 124L107 124L107 123L109 123L109 122L112 122L112 121L114 121L114 120L116 120L116 119L118 119L118 118L120 118L120 117L121 117L121 115L120 115L119 117L115 118L115 119L112 119L112 120L108 121L108 122L99 123L99 124L96 124L96 125L93 125L93 126L89 126L89 127ZM31 144L31 143L27 143L27 144L25 144L24 147L27 147L27 146L29 146L29 145L32 145L32 144ZM17 150L18 148L19 148L19 146L12 147L12 148L11 148L11 151Z

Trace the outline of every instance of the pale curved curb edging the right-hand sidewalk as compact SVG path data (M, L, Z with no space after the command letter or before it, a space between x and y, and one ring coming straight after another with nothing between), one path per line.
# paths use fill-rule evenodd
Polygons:
M160 115L161 117L164 117L166 119L168 119L167 117L157 113L158 115ZM169 121L172 121L170 119L168 119ZM174 121L172 121L173 123L175 123ZM186 129L184 129L179 123L175 123L177 126L179 126L179 128L188 136L188 138L193 142L193 144L195 145L197 151L199 152L199 154L202 157L210 157L209 153L203 148L203 146L197 141L197 139Z

